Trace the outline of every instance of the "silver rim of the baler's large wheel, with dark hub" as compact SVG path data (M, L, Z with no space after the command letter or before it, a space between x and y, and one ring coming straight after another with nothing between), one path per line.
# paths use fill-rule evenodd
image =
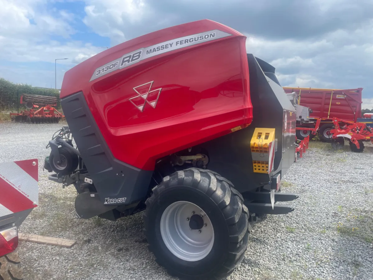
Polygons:
M193 215L199 215L203 227L190 229L189 222ZM192 220L200 221L194 216ZM169 205L163 212L160 231L164 244L184 261L199 261L205 258L214 244L214 229L210 218L194 203L178 201Z

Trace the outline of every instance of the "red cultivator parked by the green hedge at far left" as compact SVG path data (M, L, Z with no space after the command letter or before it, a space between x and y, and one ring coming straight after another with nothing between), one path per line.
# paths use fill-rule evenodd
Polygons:
M20 104L26 104L29 110L21 111L21 113L10 113L10 118L16 122L57 123L65 117L54 108L57 106L57 97L22 94Z

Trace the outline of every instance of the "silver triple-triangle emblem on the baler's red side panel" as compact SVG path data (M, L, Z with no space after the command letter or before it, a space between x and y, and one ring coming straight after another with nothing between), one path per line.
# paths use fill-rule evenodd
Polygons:
M144 111L146 103L148 103L153 108L156 108L157 106L158 98L161 94L162 88L151 90L153 82L154 81L151 81L133 88L137 95L130 98L129 101L131 101L131 103L135 105L135 107L139 109L140 112Z

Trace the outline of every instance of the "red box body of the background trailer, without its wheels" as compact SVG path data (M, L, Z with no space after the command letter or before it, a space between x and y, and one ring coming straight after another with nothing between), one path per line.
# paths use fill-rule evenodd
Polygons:
M310 118L339 118L357 121L361 116L361 91L363 88L333 90L319 88L284 87L286 93L300 93L300 105L311 108ZM332 95L333 93L333 95ZM330 100L330 97L331 100Z

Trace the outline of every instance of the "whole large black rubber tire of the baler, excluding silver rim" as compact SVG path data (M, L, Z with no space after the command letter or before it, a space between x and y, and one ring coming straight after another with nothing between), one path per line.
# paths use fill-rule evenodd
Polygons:
M204 259L188 262L173 255L163 242L160 219L176 201L189 201L208 214L214 228L214 244ZM164 178L145 202L144 235L159 265L180 279L220 280L242 262L251 226L242 195L227 179L209 170L189 168Z

